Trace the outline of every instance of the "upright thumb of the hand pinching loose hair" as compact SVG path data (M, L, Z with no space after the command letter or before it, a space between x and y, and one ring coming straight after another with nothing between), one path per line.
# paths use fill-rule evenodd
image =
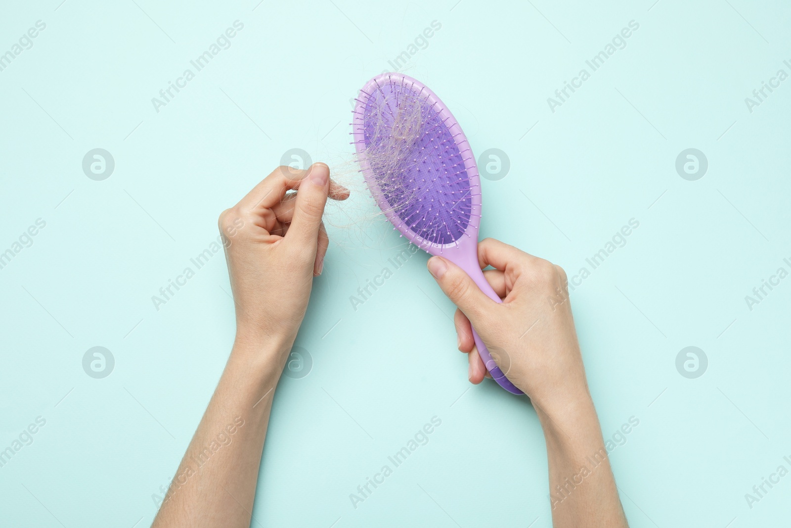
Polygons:
M299 245L316 247L319 237L321 215L327 203L330 168L324 163L314 163L300 184L297 201L291 218L289 236Z

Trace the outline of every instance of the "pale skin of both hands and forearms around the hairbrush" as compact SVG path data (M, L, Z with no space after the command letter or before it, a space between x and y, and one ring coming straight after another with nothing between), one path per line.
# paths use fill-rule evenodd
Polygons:
M324 206L327 198L349 196L329 172L322 163L306 171L279 167L220 215L236 339L154 519L155 528L259 526L252 506L272 399L305 317L312 279L324 267ZM435 256L428 264L441 290L458 306L458 348L468 355L468 378L477 384L486 375L472 340L472 321L500 367L536 408L547 442L550 491L562 499L552 503L553 525L626 527L606 458L584 478L576 477L580 484L568 484L604 440L585 379L565 273L492 239L479 244L479 264L495 268L485 275L502 304L486 297L448 260ZM503 397L510 396L504 391ZM558 485L566 487L565 495L555 489Z

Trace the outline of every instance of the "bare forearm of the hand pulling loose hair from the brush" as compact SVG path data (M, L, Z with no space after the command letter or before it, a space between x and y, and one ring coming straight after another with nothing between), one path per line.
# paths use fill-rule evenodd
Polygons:
M234 344L153 528L250 526L282 348Z

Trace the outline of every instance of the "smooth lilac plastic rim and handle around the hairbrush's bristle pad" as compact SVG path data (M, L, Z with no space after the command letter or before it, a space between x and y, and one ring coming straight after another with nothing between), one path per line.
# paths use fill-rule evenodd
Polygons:
M426 251L426 253L430 253L431 255L442 255L447 257L448 260L452 260L454 263L459 265L460 268L464 269L468 275L471 275L473 279L475 279L475 283L478 283L479 287L481 287L484 293L486 293L495 301L502 302L498 295L492 291L491 287L489 287L489 284L486 283L486 279L483 279L483 272L481 272L478 265L478 230L480 226L482 204L482 193L480 192L481 181L478 172L478 165L475 163L475 158L472 155L470 143L467 141L467 136L464 135L464 131L461 130L459 122L453 116L450 109L445 106L439 97L437 97L437 94L433 93L431 89L422 84L422 82L419 82L417 79L395 72L377 75L369 82L365 83L365 86L362 87L359 96L357 97L357 104L354 105L354 117L352 120L352 137L354 137L354 147L358 153L361 172L363 174L369 174L371 171L369 162L365 157L365 123L363 116L365 114L365 104L367 104L367 98L370 97L370 95L382 85L394 83L409 83L411 85L411 89L418 88L419 95L422 96L423 94L426 94L426 101L428 101L431 106L438 110L441 120L447 120L447 122L450 123L448 126L448 131L450 131L451 135L456 138L456 146L459 149L460 154L462 154L462 158L464 159L464 169L467 170L467 174L469 176L470 188L478 188L479 192L477 194L473 193L471 195L471 213L470 220L467 223L467 229L464 230L464 233L461 234L461 236L457 238L456 241L448 244L437 244L427 241L425 238L410 230L409 226L405 225L403 220L395 214L395 211L392 210L392 207L388 203L387 198L384 197L384 194L381 192L379 186L376 184L371 184L373 178L366 177L365 181L368 184L371 195L373 196L373 199L376 200L377 205L384 213L385 217L388 218L393 226L395 226L396 230L399 230L403 237L406 237L408 241L414 245L417 245L418 248ZM469 242L464 243L464 237L471 238L475 241L475 244L471 244ZM462 241L462 243L460 243L460 241ZM475 272L477 272L479 275L477 279L472 275ZM488 291L486 291L486 288L488 288ZM475 338L476 348L478 348L479 351L479 355L481 356L481 359L483 359L483 363L486 366L486 369L489 370L489 373L491 374L494 381L498 382L498 385L507 390L509 393L524 394L520 389L517 388L517 386L513 385L513 383L505 376L505 373L501 370L501 368L498 367L497 363L494 361L494 359L492 359L490 352L483 344L483 340L481 340L478 336L478 333L475 332L475 329L472 329L472 332L473 337Z

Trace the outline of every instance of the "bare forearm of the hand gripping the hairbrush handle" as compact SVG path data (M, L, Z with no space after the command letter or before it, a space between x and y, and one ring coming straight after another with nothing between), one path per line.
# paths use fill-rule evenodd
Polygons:
M625 528L626 517L589 396L549 413L538 412L547 440L555 528Z

